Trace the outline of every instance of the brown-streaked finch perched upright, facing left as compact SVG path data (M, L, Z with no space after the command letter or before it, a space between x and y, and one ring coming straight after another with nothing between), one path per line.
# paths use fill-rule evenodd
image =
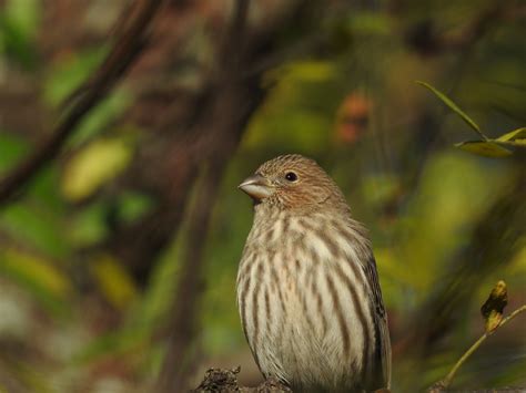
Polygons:
M237 304L266 379L293 391L388 387L391 343L364 227L312 159L264 163L240 188L254 223L237 273Z

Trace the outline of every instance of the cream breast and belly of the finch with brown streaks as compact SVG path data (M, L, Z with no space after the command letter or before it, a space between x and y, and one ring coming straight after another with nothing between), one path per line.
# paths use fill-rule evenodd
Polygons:
M237 279L240 313L260 369L289 382L312 375L307 383L336 385L353 378L370 318L356 304L364 290L353 287L361 275L353 242L345 231L331 237L330 224L315 216L265 224L252 229Z

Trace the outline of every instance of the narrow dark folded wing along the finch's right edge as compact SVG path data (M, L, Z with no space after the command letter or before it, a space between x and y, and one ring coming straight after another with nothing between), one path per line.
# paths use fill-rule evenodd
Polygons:
M375 359L382 364L382 369L377 370L373 375L374 381L377 383L382 381L384 384L380 387L390 387L391 385L391 339L390 330L387 327L387 313L385 312L384 302L382 300L382 292L380 289L378 273L376 272L376 261L374 256L367 263L363 265L363 269L367 281L371 286L372 293L372 314L375 319L375 332L377 345L375 349ZM378 364L377 363L377 364Z

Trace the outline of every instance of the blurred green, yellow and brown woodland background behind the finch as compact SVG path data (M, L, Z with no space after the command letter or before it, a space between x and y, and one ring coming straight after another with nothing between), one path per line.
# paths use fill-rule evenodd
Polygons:
M0 391L181 392L237 365L261 382L236 186L284 153L371 230L393 391L442 379L498 280L508 312L526 302L525 161L455 148L478 135L415 80L490 137L524 126L525 22L514 0L0 0L0 182L40 154L0 183ZM125 73L98 79L112 54ZM525 370L523 314L454 386Z

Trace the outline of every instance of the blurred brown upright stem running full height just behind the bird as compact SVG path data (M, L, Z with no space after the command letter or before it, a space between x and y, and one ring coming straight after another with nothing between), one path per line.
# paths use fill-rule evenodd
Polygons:
M229 157L234 153L250 116L263 99L257 85L242 84L235 72L244 54L240 43L245 32L247 6L247 0L236 1L224 37L225 41L222 42L221 55L215 64L215 74L212 75L212 84L215 87L212 101L210 106L203 110L201 121L194 125L192 132L192 135L201 136L194 148L200 157L209 156L205 162L208 167L203 183L199 187L198 200L189 215L191 224L178 289L172 299L169 321L171 337L168 340L168 351L158 380L158 392L188 390L188 378L196 359L191 343L195 341L199 332L196 316L204 289L203 236L209 231ZM240 53L236 54L237 52ZM196 157L198 154L192 156ZM196 162L192 164L199 166Z

